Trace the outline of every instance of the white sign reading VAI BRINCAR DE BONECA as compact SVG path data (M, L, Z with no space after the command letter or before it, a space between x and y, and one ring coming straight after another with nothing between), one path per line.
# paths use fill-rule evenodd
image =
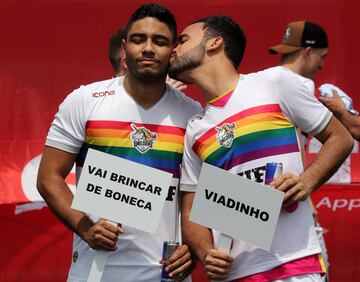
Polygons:
M155 233L172 174L89 149L72 208Z

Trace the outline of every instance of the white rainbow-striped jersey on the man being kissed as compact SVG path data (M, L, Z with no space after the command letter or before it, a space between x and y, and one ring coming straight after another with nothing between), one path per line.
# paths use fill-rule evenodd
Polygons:
M156 234L123 226L118 249L110 253L101 281L160 281L162 243L178 239L178 182L185 128L199 111L199 103L169 86L154 106L144 109L126 92L123 78L82 86L60 105L46 145L78 154L77 179L88 148L174 175ZM71 264L68 281L86 281L95 252L76 234L73 251L78 258Z

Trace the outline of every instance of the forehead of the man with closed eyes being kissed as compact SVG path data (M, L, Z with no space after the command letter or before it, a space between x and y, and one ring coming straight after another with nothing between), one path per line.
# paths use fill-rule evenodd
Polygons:
M161 34L169 37L169 39L172 37L169 27L153 17L146 17L133 22L128 31L128 36L134 33Z

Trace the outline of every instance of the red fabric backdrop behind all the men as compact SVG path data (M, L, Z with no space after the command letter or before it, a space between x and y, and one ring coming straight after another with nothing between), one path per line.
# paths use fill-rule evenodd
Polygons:
M35 189L36 170L58 104L81 84L112 75L107 61L108 39L142 3L0 1L0 281L64 281L70 258L70 233L47 208L14 215L14 204L41 200ZM209 14L222 13L238 21L248 37L239 69L242 73L277 64L278 57L270 56L267 48L281 40L287 22L318 22L328 32L330 52L316 84L330 82L340 86L352 96L355 108L360 109L358 61L354 57L360 49L360 38L356 36L360 27L359 1L158 3L174 12L180 31L192 20ZM188 94L201 100L193 87ZM314 154L309 153L309 157ZM348 171L348 182L353 184L360 183L359 158L358 151L354 151ZM69 183L74 183L73 175ZM360 198L356 185L328 186L317 195L321 193L333 201ZM319 211L320 219L330 230L325 238L330 249L332 281L356 281L360 273L355 253L359 247L355 217L358 209L332 210L322 205Z

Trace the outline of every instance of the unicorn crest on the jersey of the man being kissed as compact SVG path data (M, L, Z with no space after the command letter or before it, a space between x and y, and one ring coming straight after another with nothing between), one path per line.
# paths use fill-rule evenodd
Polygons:
M130 134L130 138L136 150L142 154L149 151L154 146L157 134L145 127L136 127L133 123L131 128L134 131Z

